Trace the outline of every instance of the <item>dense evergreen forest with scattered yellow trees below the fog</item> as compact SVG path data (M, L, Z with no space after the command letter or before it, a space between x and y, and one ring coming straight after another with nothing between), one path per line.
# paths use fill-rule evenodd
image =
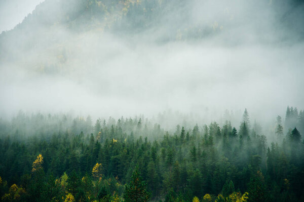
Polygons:
M26 115L0 121L2 201L303 201L304 113L275 142L244 111L167 131L143 117Z

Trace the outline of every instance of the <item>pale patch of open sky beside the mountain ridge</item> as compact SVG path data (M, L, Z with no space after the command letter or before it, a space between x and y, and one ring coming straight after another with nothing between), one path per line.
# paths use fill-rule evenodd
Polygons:
M1 0L0 33L13 29L44 0Z

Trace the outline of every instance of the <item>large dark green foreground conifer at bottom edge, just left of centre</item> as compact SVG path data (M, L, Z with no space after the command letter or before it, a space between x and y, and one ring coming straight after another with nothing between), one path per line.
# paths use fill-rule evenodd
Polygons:
M147 184L142 180L138 171L138 166L135 168L131 181L126 184L124 198L126 202L145 202L148 201L151 193L147 190Z

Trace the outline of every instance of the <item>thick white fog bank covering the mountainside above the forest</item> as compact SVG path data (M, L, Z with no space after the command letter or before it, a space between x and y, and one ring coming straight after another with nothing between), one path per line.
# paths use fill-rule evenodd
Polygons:
M144 18L142 28L123 9L103 20L54 23L65 12L58 2L42 3L0 35L2 117L19 110L93 118L178 111L211 121L247 108L252 121L275 122L287 106L304 109L301 3L167 1L160 7L170 9ZM105 18L120 20L109 25Z

